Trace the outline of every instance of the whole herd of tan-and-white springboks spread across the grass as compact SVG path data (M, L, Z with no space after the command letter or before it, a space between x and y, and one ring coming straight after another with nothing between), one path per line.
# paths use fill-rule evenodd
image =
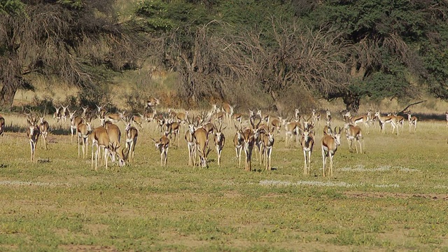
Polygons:
M176 113L172 109L164 112L156 111L160 104L158 99L148 100L144 114L127 115L125 112L108 113L104 106L97 106L97 109L90 110L87 107L70 111L68 106L55 108L53 115L56 123L69 120L71 141L73 136L78 142L78 157L87 158L89 144L92 145L91 165L97 170L98 159L101 160L108 169L108 160L112 163L118 162L122 167L126 162L134 162L134 149L139 137L139 130L143 130L144 123L155 125L156 131L160 132L157 139L153 139L155 148L160 151L160 165L167 165L168 150L172 144L180 144L180 131L185 132L185 140L188 147L188 165L207 167L207 157L211 151L209 139L213 139L216 149L217 164L221 167L221 153L225 146L225 135L223 130L229 125L235 127L236 133L233 137L235 153L239 167L241 166L241 151L245 153L245 169L251 171L252 151L255 146L255 155L265 163L265 169L271 170L272 147L274 146L274 137L278 137L281 131L285 132L285 146L290 145L290 141L295 138L300 143L304 155L304 174L309 174L311 165L311 153L315 143L315 129L321 126L321 113L316 110L311 111L311 115L302 116L298 109L295 109L295 115L289 120L277 116L262 115L260 110L251 111L248 114L234 113L234 108L223 103L221 106L214 105L209 111L202 111L197 115L192 115L189 111L185 113ZM341 135L344 132L349 148L353 150L355 144L356 153L363 153L362 130L358 124L364 125L363 129L369 134L369 128L378 122L380 131L384 132L385 125L391 124L392 133L398 135L399 128L404 127L405 118L389 114L381 116L377 111L372 114L368 111L363 116L351 116L349 112L344 113L344 127L332 127L332 116L330 111L323 113L323 137L321 137L321 155L323 159L323 176L328 173L332 176L332 162L341 144ZM447 127L448 127L448 112ZM31 150L31 162L34 162L36 144L39 137L42 138L44 148L47 149L47 136L50 126L45 118L34 116L31 111L25 113L27 118L27 138ZM99 119L101 126L92 127L92 120ZM322 120L322 121L323 121ZM120 144L121 132L117 123L123 121L125 127L125 144ZM416 130L417 118L407 113L409 123L409 132ZM137 128L139 127L139 129ZM5 119L0 116L0 135L5 130ZM199 158L198 158L199 157ZM327 159L330 167L327 168Z

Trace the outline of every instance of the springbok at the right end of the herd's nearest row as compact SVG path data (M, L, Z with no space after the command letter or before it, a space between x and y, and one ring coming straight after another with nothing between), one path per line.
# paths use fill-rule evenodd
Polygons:
M341 127L339 130L335 127L332 135L323 132L321 140L323 176L326 174L327 158L330 158L330 176L333 176L333 157L337 151L337 146L341 145Z

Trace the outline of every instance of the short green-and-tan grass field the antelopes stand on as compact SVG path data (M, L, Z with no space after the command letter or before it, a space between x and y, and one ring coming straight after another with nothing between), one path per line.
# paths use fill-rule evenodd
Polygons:
M442 122L419 122L412 133L405 124L398 136L390 125L386 134L371 127L363 154L349 152L343 136L335 176L323 178L321 128L311 176L284 134L273 171L254 160L245 172L230 127L221 168L214 151L208 168L188 167L183 133L160 167L152 125L140 132L134 164L95 172L78 158L68 123L50 134L48 151L38 143L31 163L25 119L3 116L15 132L0 140L0 251L448 251Z

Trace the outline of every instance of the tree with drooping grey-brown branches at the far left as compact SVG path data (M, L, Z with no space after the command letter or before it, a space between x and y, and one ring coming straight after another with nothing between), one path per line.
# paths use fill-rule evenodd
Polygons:
M112 0L13 2L0 7L0 106L32 88L33 74L96 90L136 65L139 43L116 22Z

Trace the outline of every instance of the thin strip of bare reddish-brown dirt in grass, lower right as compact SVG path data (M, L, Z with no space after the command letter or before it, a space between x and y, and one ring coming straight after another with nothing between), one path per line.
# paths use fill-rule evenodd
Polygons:
M387 192L344 192L346 197L353 198L387 198L408 199L411 197L422 197L430 200L448 200L448 194L442 193L387 193Z

